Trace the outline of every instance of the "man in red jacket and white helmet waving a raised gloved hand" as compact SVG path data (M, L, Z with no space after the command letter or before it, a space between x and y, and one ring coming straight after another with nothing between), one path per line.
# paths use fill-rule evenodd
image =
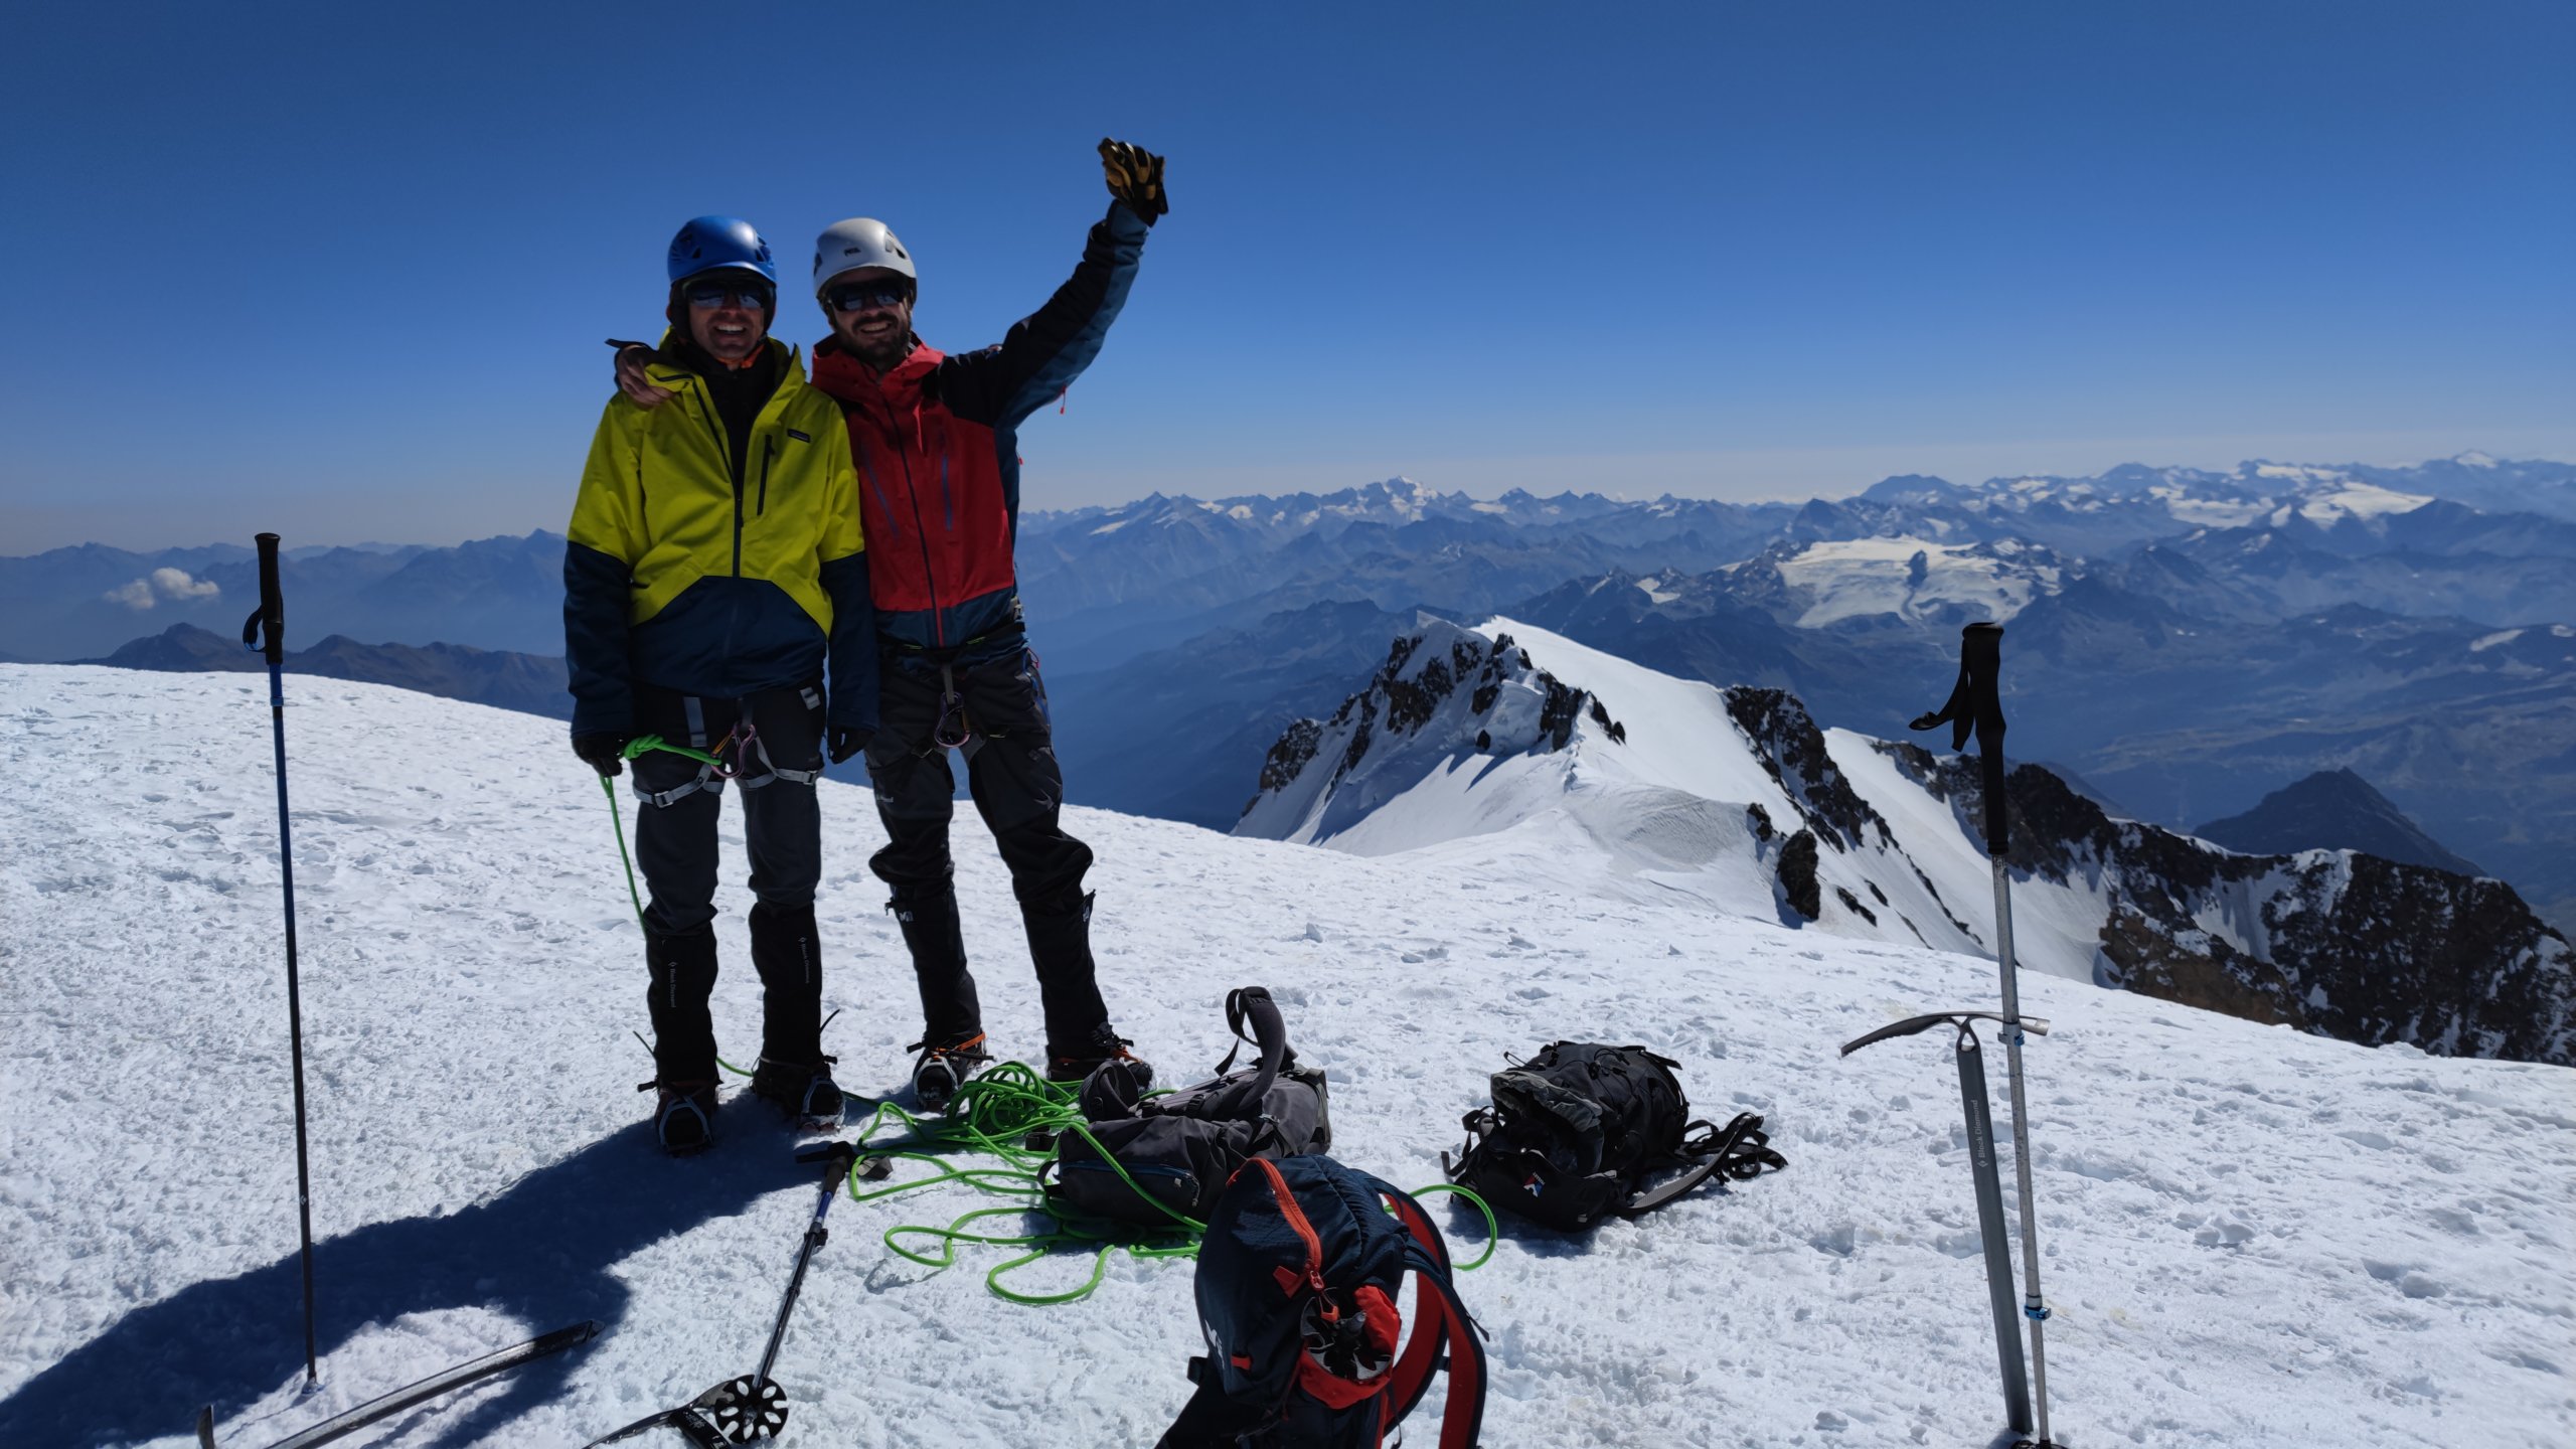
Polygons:
M1028 928L1046 1008L1046 1073L1074 1080L1126 1062L1151 1067L1110 1026L1092 972L1092 851L1064 833L1064 776L1038 657L1020 621L1018 428L1082 374L1126 304L1146 229L1167 211L1162 157L1100 142L1110 211L1082 266L1046 307L989 348L940 353L912 333L920 273L884 222L853 217L814 242L814 297L832 338L814 387L842 405L858 462L868 588L876 603L881 727L832 732L832 761L866 750L886 848L868 866L891 887L922 993L914 1096L940 1109L992 1062L958 928L948 820L956 776L992 828ZM618 379L644 402L636 353ZM649 392L649 389L647 389Z

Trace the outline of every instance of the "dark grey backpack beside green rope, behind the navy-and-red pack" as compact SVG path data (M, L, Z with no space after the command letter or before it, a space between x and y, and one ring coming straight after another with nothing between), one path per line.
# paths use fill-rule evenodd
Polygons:
M1247 1024L1252 1036L1244 1036ZM1051 1207L1177 1227L1175 1214L1206 1220L1226 1178L1249 1158L1332 1150L1324 1070L1298 1065L1270 993L1257 985L1229 993L1226 1026L1239 1042L1213 1080L1139 1098L1136 1078L1105 1062L1082 1083L1090 1127L1056 1137L1056 1155L1041 1173ZM1260 1047L1260 1065L1229 1073L1242 1042Z

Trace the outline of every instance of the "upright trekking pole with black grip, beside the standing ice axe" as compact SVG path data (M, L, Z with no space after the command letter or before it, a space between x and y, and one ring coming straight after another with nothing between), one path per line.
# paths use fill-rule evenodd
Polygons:
M1914 719L1914 730L1950 724L1950 748L1968 748L1976 730L1976 755L1984 766L1986 859L1994 861L1994 964L2004 977L2004 1078L2012 1083L2012 1176L2022 1196L2022 1318L2030 1320L2030 1387L2038 1400L2040 1436L2032 1449L2053 1449L2048 1439L2048 1302L2040 1299L2040 1222L2030 1196L2030 1104L2022 1093L2022 993L2012 957L2012 835L2004 802L2004 699L1996 678L2004 670L2004 627L1968 624L1960 629L1958 683L1937 714Z

